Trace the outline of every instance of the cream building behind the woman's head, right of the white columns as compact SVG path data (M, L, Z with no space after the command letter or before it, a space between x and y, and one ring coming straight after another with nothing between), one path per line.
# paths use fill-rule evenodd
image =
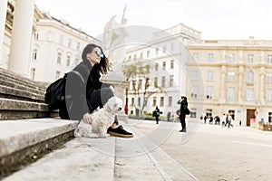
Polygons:
M51 82L62 77L81 62L81 52L91 42L99 43L64 20L43 14L34 33L31 79Z

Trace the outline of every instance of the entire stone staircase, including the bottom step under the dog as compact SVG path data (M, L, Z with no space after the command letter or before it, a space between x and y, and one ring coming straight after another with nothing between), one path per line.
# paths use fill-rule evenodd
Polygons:
M50 118L45 88L0 69L0 179L197 180L133 126L134 119L120 117L134 138L74 138L78 121ZM171 123L163 124L157 134Z

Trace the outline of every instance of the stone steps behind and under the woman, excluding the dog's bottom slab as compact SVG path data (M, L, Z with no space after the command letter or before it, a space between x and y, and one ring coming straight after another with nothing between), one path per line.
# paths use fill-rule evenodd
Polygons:
M0 68L0 178L73 138L77 122L48 110L46 87Z

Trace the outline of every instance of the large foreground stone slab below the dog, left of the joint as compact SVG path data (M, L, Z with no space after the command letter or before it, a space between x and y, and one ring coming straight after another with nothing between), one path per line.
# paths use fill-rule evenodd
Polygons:
M115 138L74 138L3 181L113 180ZM105 152L106 150L106 152Z

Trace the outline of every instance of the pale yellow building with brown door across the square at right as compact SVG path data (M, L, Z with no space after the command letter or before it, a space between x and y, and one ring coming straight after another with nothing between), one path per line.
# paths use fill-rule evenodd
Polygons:
M198 117L229 113L246 126L254 119L272 121L272 41L202 40L188 48L195 62L187 66L200 70L189 72L186 90L190 101L204 102Z

